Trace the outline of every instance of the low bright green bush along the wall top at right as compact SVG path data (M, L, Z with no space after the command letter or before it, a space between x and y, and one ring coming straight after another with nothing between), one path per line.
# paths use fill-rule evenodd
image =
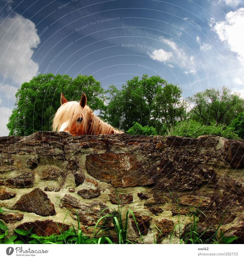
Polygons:
M198 138L202 135L215 135L227 139L239 139L239 136L235 133L234 128L224 124L215 125L213 123L206 126L194 120L179 122L171 128L167 134L188 138Z

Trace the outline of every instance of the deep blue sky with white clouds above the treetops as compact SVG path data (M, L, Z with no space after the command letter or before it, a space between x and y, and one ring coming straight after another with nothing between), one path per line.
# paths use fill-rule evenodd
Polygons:
M183 97L226 86L244 98L244 0L1 0L0 136L23 82L92 75L121 89L143 74Z

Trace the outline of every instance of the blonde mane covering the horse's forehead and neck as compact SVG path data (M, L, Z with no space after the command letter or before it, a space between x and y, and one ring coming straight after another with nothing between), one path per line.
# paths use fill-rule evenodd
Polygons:
M117 134L123 133L122 131L114 129L111 125L102 121L91 109L85 105L84 108L78 102L67 102L59 107L54 118L52 129L59 131L63 123L67 122L67 128L77 120L78 117L83 118L83 127L86 135L99 135L99 134Z

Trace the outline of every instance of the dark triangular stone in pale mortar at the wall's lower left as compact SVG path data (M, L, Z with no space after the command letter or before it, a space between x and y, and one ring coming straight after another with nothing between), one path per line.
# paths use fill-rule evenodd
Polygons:
M53 216L56 214L53 203L49 200L47 194L40 188L23 194L13 206L15 210L33 212L40 216Z

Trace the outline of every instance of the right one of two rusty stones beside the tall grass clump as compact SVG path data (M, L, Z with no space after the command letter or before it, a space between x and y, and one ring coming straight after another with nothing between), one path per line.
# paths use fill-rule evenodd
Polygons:
M147 235L150 224L152 222L152 218L149 216L145 216L141 213L135 212L135 211L133 211L133 214L135 216L135 219L136 219L136 222L137 222L141 235L143 235L143 236ZM139 235L135 220L131 214L129 214L129 218L131 218L131 225L132 225L134 231Z

